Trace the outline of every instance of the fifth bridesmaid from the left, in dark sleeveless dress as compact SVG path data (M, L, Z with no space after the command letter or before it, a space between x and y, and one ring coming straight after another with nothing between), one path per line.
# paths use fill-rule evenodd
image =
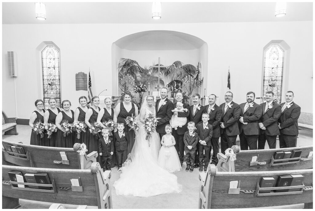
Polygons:
M85 124L88 125L87 129L87 148L88 153L91 153L93 151L98 152L98 140L100 136L94 136L90 133L89 128L91 128L92 124L96 122L98 113L100 112L100 107L98 105L100 104L100 99L97 96L92 97L91 99L92 107L88 109L88 111L85 114ZM96 162L98 162L98 157L96 158Z

